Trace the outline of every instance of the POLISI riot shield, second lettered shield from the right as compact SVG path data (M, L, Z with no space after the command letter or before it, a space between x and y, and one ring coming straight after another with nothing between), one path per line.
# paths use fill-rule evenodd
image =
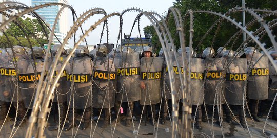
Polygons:
M247 59L228 59L226 70L225 97L228 104L243 105L243 92L247 79Z

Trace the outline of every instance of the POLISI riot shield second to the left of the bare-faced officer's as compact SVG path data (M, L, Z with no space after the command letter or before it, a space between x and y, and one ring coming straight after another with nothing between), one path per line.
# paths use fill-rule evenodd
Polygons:
M114 61L107 57L97 57L94 60L92 106L95 108L112 108L114 107L117 79Z

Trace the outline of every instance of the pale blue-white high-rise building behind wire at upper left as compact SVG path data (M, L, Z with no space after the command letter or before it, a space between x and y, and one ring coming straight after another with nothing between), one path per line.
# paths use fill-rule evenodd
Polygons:
M68 2L66 0L31 0L32 6L41 5L45 3L67 4ZM45 17L45 21L50 25L50 28L52 29L55 22L55 18L60 9L61 9L61 6L50 6L50 7L38 9L35 12L37 12L38 15ZM67 31L68 31L68 9L65 8L62 12L62 15L60 16L60 19L56 24L56 29L55 29L55 35L62 43L63 43L63 39L66 37ZM53 43L60 44L55 37L53 38ZM68 45L66 45L65 48L68 48Z

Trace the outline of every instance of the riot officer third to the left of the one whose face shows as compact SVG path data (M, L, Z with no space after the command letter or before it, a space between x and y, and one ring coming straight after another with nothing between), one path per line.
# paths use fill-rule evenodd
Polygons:
M70 64L71 67L66 69L67 83L71 84L71 93L67 94L67 104L70 108L64 131L75 126L76 109L85 110L84 123L81 127L82 130L85 130L89 126L91 117L91 74L93 68L87 47L78 45Z

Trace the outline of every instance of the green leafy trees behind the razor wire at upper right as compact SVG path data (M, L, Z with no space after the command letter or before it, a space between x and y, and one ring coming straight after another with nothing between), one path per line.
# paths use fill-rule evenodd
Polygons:
M277 3L275 3L275 0L258 0L258 1L251 1L251 0L245 0L245 6L250 7L253 9L268 9L268 10L276 10L277 9ZM189 29L190 29L190 17L187 13L188 10L197 11L197 10L209 10L209 11L215 11L217 13L226 13L230 9L234 7L241 7L242 1L241 0L234 0L234 1L228 1L228 0L183 0L183 1L176 1L173 3L173 6L180 10L181 16L183 18L183 26L184 26L184 33L185 33L185 44L188 46L189 44ZM263 13L260 13L263 14ZM214 24L214 22L219 19L218 16L208 14L208 13L193 13L193 45L192 47L199 53L202 52L206 47L213 47L215 50L219 47L222 47L224 45L227 45L227 49L233 49L236 50L241 43L243 42L243 36L242 33L238 37L235 37L235 39L232 39L229 43L227 43L230 38L239 31L239 29L236 29L234 25L230 24L230 22L227 22L226 20L222 20L219 24L216 24L215 27L211 28L211 31L205 36L205 33L210 29L210 27ZM233 12L230 13L232 19L235 19L236 22L242 22L242 12ZM247 22L253 20L253 16L251 16L249 13L246 12L246 24ZM273 17L268 17L266 20L272 20ZM179 41L179 34L177 34L176 27L175 27L175 21L172 16L172 14L169 15L168 18L168 28L170 30L171 36L174 39L174 44L177 48L180 47L180 41ZM247 28L249 31L255 31L256 29L259 29L261 27L260 24L253 24L249 28ZM153 26L147 26L144 28L145 33L150 34L152 36L153 45L155 45L157 48L161 48L161 44L159 42L159 39L157 39L155 30ZM276 31L273 29L273 34L276 34ZM201 42L201 39L203 41ZM270 45L269 38L265 35L262 39L262 42L265 42L267 44L267 47ZM226 44L227 43L227 44ZM272 44L271 44L272 45Z

